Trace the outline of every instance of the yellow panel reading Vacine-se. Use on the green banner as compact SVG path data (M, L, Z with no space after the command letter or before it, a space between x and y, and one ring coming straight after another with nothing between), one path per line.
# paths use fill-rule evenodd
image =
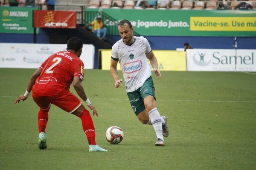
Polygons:
M190 17L190 31L256 31L256 17Z

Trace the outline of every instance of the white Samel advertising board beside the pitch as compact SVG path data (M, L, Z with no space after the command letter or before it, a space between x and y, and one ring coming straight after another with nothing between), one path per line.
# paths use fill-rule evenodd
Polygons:
M187 71L256 71L256 50L187 49Z

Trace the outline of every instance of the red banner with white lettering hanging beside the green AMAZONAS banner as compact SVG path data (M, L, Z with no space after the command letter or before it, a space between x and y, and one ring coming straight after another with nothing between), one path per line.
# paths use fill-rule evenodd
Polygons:
M76 28L76 11L33 11L34 27Z

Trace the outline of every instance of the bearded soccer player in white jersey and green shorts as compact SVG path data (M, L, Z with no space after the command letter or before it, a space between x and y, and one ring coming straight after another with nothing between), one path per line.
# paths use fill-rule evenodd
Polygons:
M157 135L155 145L164 146L163 136L169 136L167 118L160 116L157 111L154 83L147 61L148 58L154 73L160 79L157 58L151 51L147 39L134 37L134 28L130 21L120 21L118 31L122 39L113 45L111 51L111 75L115 81L115 88L119 88L122 83L116 69L119 62L125 80L126 92L135 115L143 124L153 125Z

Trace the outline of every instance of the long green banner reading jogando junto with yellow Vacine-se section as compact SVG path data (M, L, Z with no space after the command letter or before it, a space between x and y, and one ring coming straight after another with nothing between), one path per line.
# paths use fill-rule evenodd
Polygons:
M86 11L96 12L99 9L86 9ZM256 36L256 11L253 10L102 9L101 11L117 21L123 19L131 21L134 31L141 35ZM97 15L97 13L94 14ZM85 22L90 22L87 21L87 17L85 18ZM117 26L117 22L113 20L105 19L104 23L107 28Z

